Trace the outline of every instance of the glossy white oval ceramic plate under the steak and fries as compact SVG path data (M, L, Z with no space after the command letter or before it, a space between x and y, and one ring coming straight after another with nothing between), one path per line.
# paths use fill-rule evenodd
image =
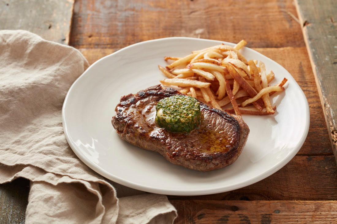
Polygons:
M164 56L182 57L214 40L173 37L145 41L110 54L88 68L71 86L62 119L67 141L75 154L100 175L138 190L167 195L204 195L248 186L278 171L302 147L309 129L309 107L294 78L279 64L249 49L249 59L263 61L277 83L288 79L286 91L273 101L277 112L269 116L243 115L250 128L238 160L221 170L198 172L173 165L155 152L120 139L111 124L121 96L159 84L158 65Z

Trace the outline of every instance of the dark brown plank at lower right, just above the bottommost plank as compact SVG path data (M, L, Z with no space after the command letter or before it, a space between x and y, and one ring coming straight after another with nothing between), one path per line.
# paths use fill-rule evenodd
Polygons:
M218 194L168 196L202 200L337 200L337 165L330 156L295 156L255 184Z

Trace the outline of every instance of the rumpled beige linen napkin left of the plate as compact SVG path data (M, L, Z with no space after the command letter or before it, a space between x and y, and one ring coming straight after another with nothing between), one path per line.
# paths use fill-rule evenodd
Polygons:
M69 147L62 104L88 66L73 47L0 31L0 183L30 180L26 223L173 223L166 196L115 188Z

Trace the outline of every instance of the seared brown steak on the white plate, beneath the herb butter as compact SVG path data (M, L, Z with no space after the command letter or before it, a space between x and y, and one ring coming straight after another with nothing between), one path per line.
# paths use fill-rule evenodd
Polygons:
M240 116L200 103L201 124L188 134L169 132L155 123L160 99L181 94L160 85L120 99L112 118L118 135L132 145L159 152L173 164L211 171L232 164L246 144L249 128Z

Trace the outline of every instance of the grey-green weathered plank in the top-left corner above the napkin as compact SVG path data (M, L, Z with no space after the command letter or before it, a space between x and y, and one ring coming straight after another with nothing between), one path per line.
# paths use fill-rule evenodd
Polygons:
M28 30L68 44L74 0L0 1L0 29Z

